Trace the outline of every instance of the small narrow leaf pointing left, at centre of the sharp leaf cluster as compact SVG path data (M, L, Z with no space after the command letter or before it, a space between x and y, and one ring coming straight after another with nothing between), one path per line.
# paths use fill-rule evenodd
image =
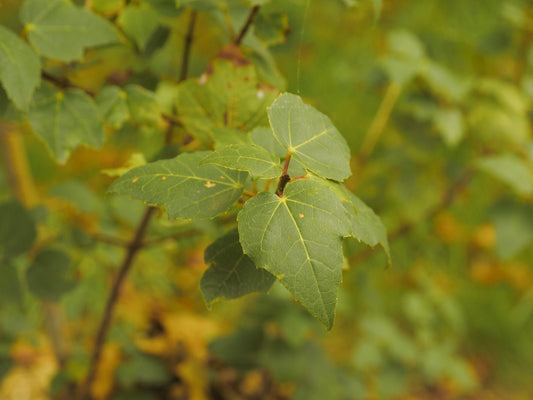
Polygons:
M279 158L253 144L233 144L209 154L200 165L215 164L237 171L248 171L252 179L273 179L281 175Z

